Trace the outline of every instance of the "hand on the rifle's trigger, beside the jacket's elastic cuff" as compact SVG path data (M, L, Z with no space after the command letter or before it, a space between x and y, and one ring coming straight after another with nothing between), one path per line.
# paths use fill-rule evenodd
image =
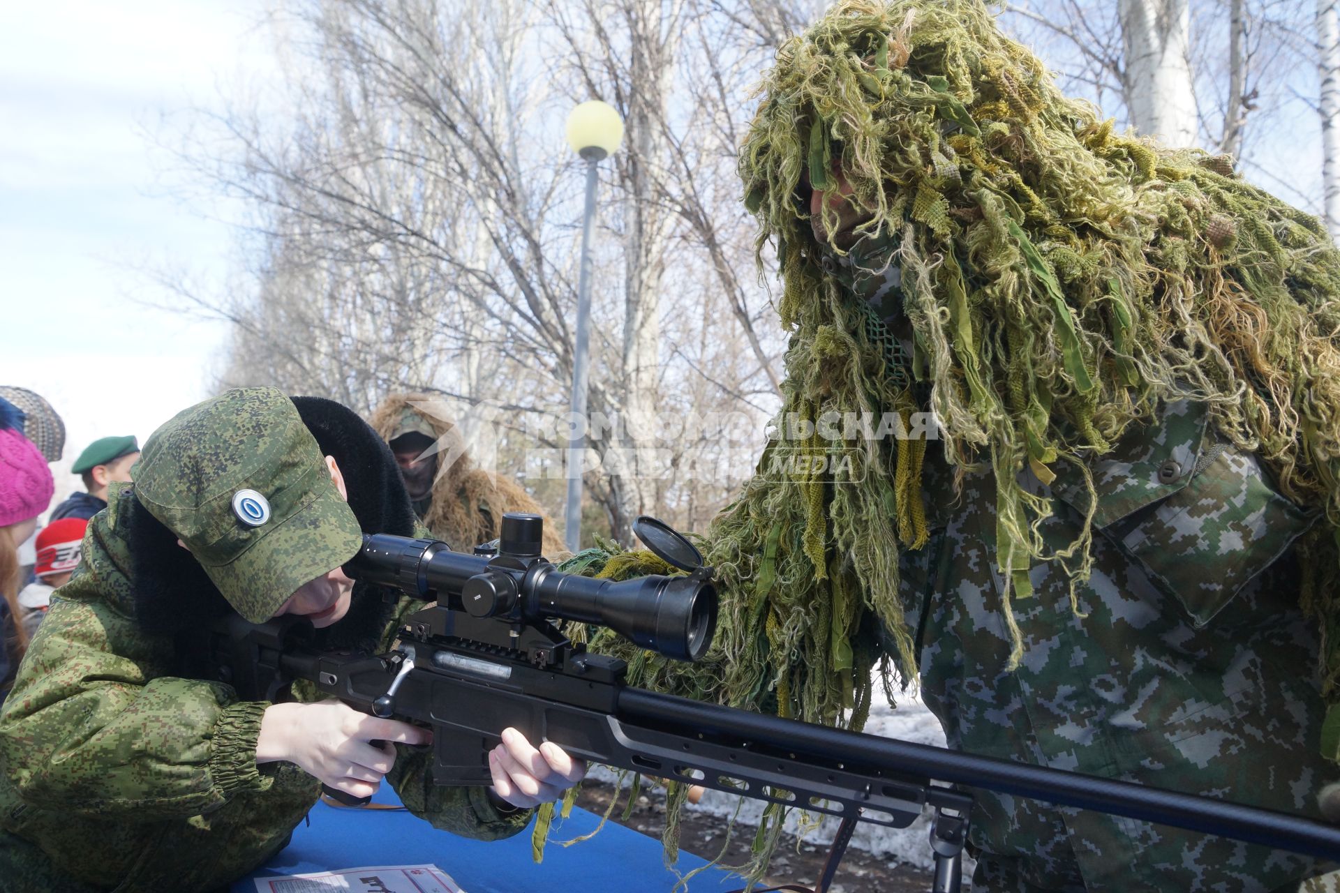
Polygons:
M377 747L371 742L386 744ZM423 744L429 732L394 719L360 714L338 700L272 704L260 720L256 762L287 760L327 787L371 797L395 764L391 742Z

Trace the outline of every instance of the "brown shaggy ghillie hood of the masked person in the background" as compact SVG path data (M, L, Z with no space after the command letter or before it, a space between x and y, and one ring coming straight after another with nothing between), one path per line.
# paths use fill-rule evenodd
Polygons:
M387 443L407 431L433 431L438 440L438 461L457 455L449 469L437 470L433 498L423 511L423 525L433 536L458 552L469 552L481 542L498 536L498 525L507 511L544 514L540 505L517 483L504 477L476 469L465 453L460 428L440 414L421 407L440 403L430 394L391 394L368 419L373 428ZM444 439L445 438L445 439ZM557 526L544 521L544 554L567 554Z

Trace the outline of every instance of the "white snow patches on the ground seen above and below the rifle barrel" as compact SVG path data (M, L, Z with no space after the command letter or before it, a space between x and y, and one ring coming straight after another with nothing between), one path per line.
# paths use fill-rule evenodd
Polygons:
M876 703L871 707L870 720L866 723L864 731L867 734L879 735L882 738L898 738L907 742L915 742L918 744L934 744L938 747L945 746L945 732L939 727L939 720L931 715L926 706L922 704L921 699L913 694L904 692L899 695L898 708L894 710L887 704L880 703L883 702L883 699L878 695L880 691L883 691L882 683L876 677ZM616 774L603 766L594 767L591 777L606 783L614 783L616 779ZM764 802L745 799L741 803L738 797L724 791L708 790L704 793L702 801L697 805L686 803L685 809L720 815L722 819L722 830L726 826L726 821L734 815L737 825L744 826L738 827L736 834L752 835L753 829L758 826L758 819L762 815ZM736 811L737 809L738 813ZM931 856L929 843L929 815L930 813L923 811L921 818L913 822L909 827L902 829L860 822L856 826L856 831L852 834L851 846L854 849L866 850L871 856L930 869L934 864L934 857ZM800 815L796 811L792 811L787 819L787 830L795 833L799 819ZM805 841L813 845L827 846L832 842L833 834L838 831L838 818L824 817L819 827L811 830L805 835ZM787 843L783 843L783 846L787 846ZM969 864L966 856L965 864ZM970 872L970 869L967 870Z

